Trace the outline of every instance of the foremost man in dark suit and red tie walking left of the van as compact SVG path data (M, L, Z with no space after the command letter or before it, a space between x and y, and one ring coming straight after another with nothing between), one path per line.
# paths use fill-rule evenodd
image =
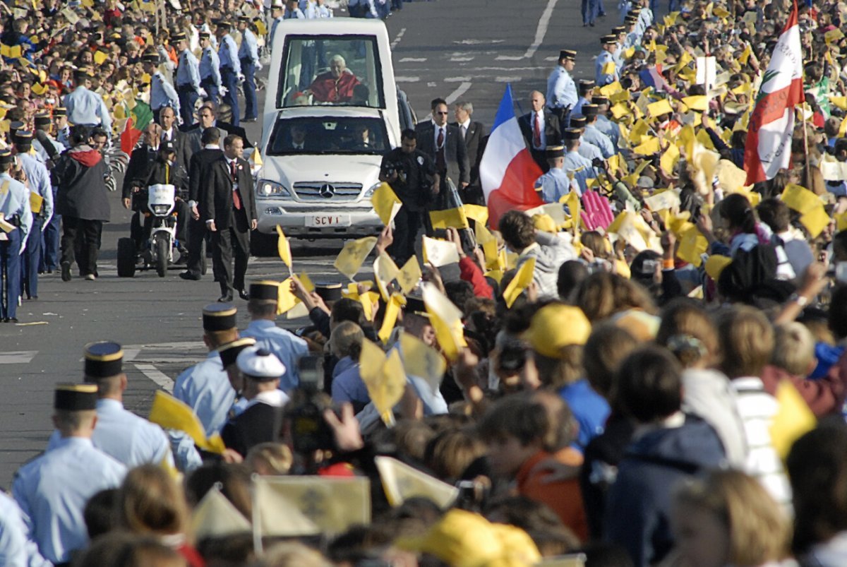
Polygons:
M220 302L232 301L233 289L244 300L250 298L244 287L247 260L250 258L250 231L257 226L256 201L250 164L241 158L244 141L226 136L224 155L213 162L209 173L209 191L202 196L203 222L212 232L212 262L220 284ZM235 272L232 266L235 247Z

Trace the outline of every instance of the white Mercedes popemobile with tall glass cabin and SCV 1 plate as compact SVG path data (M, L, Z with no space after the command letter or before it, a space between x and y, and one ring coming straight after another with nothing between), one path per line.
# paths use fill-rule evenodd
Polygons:
M381 20L285 20L271 52L253 252L292 238L358 238L382 224L370 197L384 153L414 127Z

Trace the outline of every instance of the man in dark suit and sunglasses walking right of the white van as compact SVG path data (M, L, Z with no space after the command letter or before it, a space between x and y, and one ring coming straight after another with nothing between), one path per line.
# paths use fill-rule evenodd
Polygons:
M447 178L456 185L459 196L464 200L465 188L470 184L471 168L468 149L458 126L448 125L447 103L443 98L432 102L432 121L418 124L418 150L427 154L435 163L440 178L440 191L430 210L448 207Z

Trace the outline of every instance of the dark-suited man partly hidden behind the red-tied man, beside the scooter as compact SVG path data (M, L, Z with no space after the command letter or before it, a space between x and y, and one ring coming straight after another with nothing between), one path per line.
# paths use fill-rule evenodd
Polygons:
M203 240L206 238L206 223L201 220L200 207L210 190L209 177L211 165L224 155L220 149L220 131L207 128L201 136L202 149L191 156L191 169L188 170L188 265L180 274L183 280L199 280L201 277L201 258Z

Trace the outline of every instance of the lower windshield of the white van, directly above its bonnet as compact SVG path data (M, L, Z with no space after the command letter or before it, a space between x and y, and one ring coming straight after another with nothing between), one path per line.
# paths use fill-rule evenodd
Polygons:
M391 149L385 122L378 118L280 118L268 142L268 155L300 153L368 153L382 155Z

